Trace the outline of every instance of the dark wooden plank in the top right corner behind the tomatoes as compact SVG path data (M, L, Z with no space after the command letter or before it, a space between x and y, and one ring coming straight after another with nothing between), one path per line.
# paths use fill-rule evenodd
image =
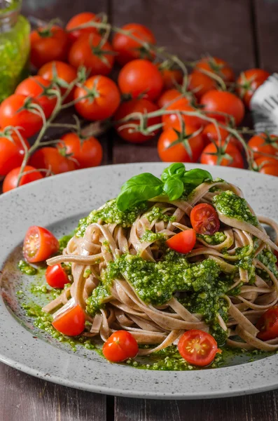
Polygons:
M258 39L258 65L277 72L278 1L253 0L254 25Z

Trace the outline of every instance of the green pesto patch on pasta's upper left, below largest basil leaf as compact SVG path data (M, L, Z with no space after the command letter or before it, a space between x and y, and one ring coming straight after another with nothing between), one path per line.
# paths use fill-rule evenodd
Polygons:
M139 203L132 209L122 212L118 209L116 199L109 200L102 208L92 210L87 218L82 218L79 221L78 227L75 230L76 236L83 236L88 225L94 222L104 222L106 224L118 224L122 227L131 227L137 216L148 209L146 202Z

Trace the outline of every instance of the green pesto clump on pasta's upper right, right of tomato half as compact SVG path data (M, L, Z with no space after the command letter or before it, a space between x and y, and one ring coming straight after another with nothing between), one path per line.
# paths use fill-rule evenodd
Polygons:
M222 215L228 216L228 218L235 218L239 221L248 222L255 227L258 225L258 220L256 216L251 213L246 200L237 196L235 193L230 192L230 190L214 196L213 201L216 209Z

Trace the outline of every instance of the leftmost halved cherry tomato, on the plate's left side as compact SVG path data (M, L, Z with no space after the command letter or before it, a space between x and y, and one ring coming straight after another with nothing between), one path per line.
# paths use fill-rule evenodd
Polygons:
M29 227L24 243L23 255L30 263L43 262L59 250L59 241L43 227Z

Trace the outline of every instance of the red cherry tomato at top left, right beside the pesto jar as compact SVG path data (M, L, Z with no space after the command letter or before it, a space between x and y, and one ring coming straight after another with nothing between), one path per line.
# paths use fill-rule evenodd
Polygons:
M31 62L37 69L52 60L67 58L68 36L61 27L38 28L31 33L30 41Z

